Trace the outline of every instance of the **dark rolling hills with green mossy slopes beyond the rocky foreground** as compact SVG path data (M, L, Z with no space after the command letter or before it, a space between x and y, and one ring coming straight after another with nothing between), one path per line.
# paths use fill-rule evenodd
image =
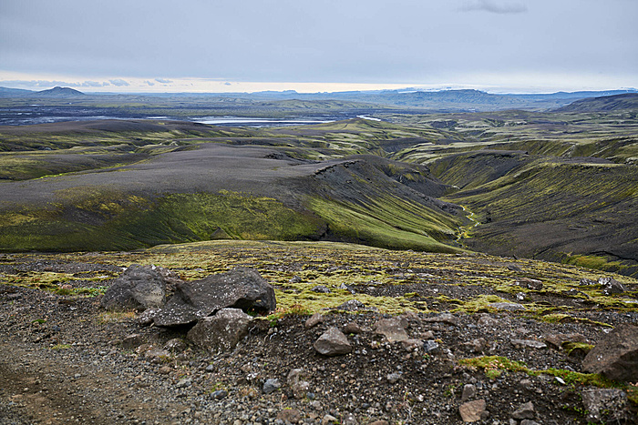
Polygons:
M2 127L0 247L339 240L638 273L635 109L383 117Z

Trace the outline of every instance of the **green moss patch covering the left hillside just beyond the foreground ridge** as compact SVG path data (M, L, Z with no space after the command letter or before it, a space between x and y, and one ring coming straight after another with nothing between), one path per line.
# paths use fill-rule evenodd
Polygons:
M232 192L150 200L97 188L60 194L75 207L5 213L0 250L114 250L211 238L317 238L324 223L268 197ZM80 217L81 221L74 219Z

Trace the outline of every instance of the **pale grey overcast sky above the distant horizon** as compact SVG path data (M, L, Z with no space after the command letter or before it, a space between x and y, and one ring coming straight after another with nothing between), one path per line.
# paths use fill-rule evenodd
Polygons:
M0 86L638 88L638 0L0 0Z

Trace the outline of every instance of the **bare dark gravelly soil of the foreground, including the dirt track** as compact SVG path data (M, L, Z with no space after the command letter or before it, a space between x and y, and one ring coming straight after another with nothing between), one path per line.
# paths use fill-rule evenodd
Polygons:
M92 270L105 269L117 273L121 268L90 260L59 258L52 263L15 257L0 268L0 280L33 271L77 270L91 276ZM406 263L395 271L413 270ZM450 285L430 289L444 287L449 297L472 291ZM416 288L385 289L387 297ZM427 288L417 289L427 297ZM269 424L298 419L297 423L319 424L332 423L329 416L351 424L460 423L458 407L466 384L477 389L470 400L487 402L489 416L481 423L519 423L510 421L512 412L528 401L538 423L587 423L580 396L586 387L580 384L510 371L489 379L483 369L458 360L498 355L524 361L530 369L580 371L579 357L559 349L517 348L511 340L542 341L551 334L577 332L595 343L609 331L592 321L550 323L509 310L456 313L451 319L427 311L406 314L411 338L437 342L439 348L426 354L385 342L374 333L376 320L387 317L383 314L334 309L324 314L324 323L311 329L304 326L307 315L255 320L249 336L229 353L211 354L173 342L170 356L162 357L154 356L151 346L162 348L183 333L142 327L134 312L107 314L98 298L0 285L0 423ZM638 322L635 311L592 310L591 315L581 315L614 325ZM433 318L440 320L430 321ZM352 353L326 358L314 350L314 341L325 329L343 329L351 322L362 329L348 336ZM137 341L125 342L136 333ZM480 338L485 343L473 348ZM310 383L309 393L299 400L286 384L292 369L304 369ZM266 379L279 379L281 388L265 394ZM227 395L215 392L220 390Z

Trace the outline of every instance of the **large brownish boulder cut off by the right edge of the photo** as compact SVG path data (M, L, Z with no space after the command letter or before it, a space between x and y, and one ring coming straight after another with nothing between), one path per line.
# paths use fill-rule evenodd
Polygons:
M638 380L638 327L613 329L582 360L585 372L601 373L608 379Z

